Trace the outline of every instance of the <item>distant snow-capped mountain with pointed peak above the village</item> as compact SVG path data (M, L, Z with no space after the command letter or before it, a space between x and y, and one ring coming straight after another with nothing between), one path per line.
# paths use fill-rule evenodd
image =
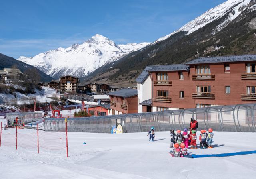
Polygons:
M61 75L84 77L108 61L116 61L148 44L116 45L114 41L96 34L82 44L50 50L29 58L21 56L17 60L33 65L54 78Z

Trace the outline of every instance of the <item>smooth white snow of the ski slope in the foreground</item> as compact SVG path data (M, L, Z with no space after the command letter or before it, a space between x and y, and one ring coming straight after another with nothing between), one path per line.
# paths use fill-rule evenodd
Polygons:
M3 130L3 132L14 132ZM32 129L22 129L30 133ZM2 179L244 179L256 178L256 133L214 132L213 149L190 149L190 154L222 154L251 151L230 157L174 158L168 154L169 132L68 133L66 150L48 151L0 147ZM83 144L86 142L86 144ZM207 155L206 155L207 156Z

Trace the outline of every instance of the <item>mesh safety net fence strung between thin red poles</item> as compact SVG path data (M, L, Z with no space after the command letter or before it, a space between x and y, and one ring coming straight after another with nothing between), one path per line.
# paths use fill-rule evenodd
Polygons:
M19 129L16 126L15 130L2 131L2 122L0 129L0 147L19 147L22 148L36 148L39 153L40 148L49 150L60 150L66 148L66 154L68 157L68 130L66 125L66 132L45 132L38 129L31 130L31 132L25 133L23 129Z

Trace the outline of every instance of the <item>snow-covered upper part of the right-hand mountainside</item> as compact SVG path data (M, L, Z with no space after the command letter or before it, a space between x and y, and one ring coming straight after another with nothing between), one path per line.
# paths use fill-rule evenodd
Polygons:
M244 10L247 8L255 8L255 6L250 6L250 2L253 5L255 0L228 0L208 11L206 11L201 16L197 17L196 19L188 22L184 26L182 26L180 29L164 36L159 39L157 39L154 43L165 40L169 38L174 33L180 32L180 31L187 31L187 35L204 27L208 23L217 20L224 15L228 14L228 17L222 22L222 24L219 24L216 29L212 32L213 34L220 31L222 28L226 27L229 22L234 20L239 14L241 14ZM250 7L249 7L249 6Z

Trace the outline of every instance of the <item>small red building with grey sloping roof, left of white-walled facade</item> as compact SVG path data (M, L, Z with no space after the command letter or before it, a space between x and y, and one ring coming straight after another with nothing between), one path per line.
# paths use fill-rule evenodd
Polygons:
M129 114L138 112L138 91L121 89L108 93L110 97L110 114Z

